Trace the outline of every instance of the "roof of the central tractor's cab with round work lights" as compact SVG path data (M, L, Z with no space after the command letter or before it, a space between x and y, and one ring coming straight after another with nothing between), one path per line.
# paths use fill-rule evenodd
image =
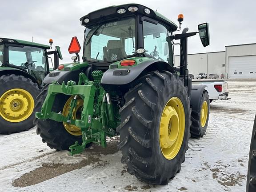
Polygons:
M138 11L129 12L128 8L132 7L132 6L136 6L138 8ZM124 8L126 10L126 12L124 12L123 14L117 13L117 10L119 10L121 8ZM145 11L144 11L145 8L150 10L149 14L145 13ZM119 16L138 15L138 14L143 15L143 16L148 16L152 19L160 21L172 30L176 30L178 28L177 25L174 24L167 17L161 15L160 13L158 13L148 7L145 7L144 5L140 5L140 4L123 4L123 5L114 5L114 6L102 8L102 9L96 10L94 12L90 12L86 16L81 17L80 21L81 21L82 25L88 26L88 25L95 24L96 22L100 22L100 21L106 20L106 19L113 19L113 18L119 17ZM84 19L86 19L86 18L89 19L88 23L84 22Z

